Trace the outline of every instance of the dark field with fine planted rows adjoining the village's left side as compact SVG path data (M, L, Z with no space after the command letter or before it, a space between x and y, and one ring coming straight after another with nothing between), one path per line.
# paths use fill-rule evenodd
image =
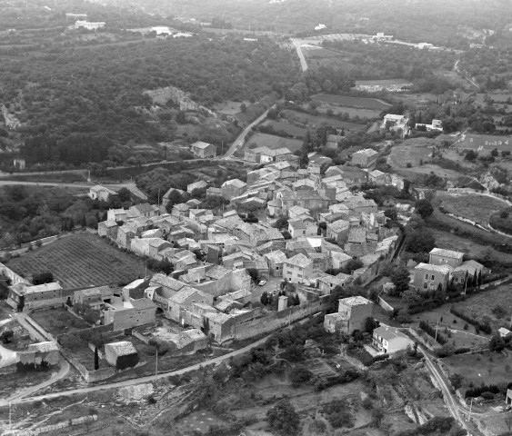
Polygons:
M145 263L123 253L91 233L69 234L12 259L9 268L30 279L37 272L53 272L64 289L129 283L146 273Z

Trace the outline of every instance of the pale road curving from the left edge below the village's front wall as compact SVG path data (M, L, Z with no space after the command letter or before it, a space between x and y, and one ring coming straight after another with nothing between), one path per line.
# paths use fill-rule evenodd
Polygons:
M77 395L81 393L88 393L88 392L95 392L95 391L105 391L109 389L119 389L124 388L125 386L133 386L135 384L141 384L141 383L147 383L150 381L156 381L160 379L166 379L167 377L172 377L175 375L182 375L186 372L193 372L198 370L200 367L205 367L208 365L212 365L218 362L226 361L227 359L237 356L239 354L243 354L244 352L248 352L251 349L262 345L266 342L268 336L266 336L263 339L260 339L259 341L253 342L250 345L247 345L244 348L241 348L240 350L236 350L235 352L230 352L228 354L225 354L223 356L216 357L215 359L210 359L206 362L196 363L196 365L188 366L187 368L183 368L181 370L173 371L173 372L164 372L157 375L150 375L147 377L140 377L138 379L132 379L132 380L126 380L126 381L118 381L115 383L108 383L108 384L102 384L98 386L91 386L88 388L80 388L80 389L74 389L71 391L62 391L62 392L55 392L55 393L47 393L45 395L39 395L35 397L27 397L27 398L16 398L15 400L11 400L13 403L20 403L20 402L32 402L32 401L42 401L42 400L48 400L52 398L59 398L59 397L65 397L65 396L71 396L71 395ZM0 406L6 406L8 405L9 401L7 400L0 400Z

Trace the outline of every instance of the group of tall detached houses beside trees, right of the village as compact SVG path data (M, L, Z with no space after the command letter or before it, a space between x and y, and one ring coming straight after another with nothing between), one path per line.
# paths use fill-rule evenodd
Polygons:
M467 277L484 272L484 265L464 261L464 253L434 248L428 263L418 263L414 269L413 283L418 292L435 292L439 285L445 291L448 282L465 285Z

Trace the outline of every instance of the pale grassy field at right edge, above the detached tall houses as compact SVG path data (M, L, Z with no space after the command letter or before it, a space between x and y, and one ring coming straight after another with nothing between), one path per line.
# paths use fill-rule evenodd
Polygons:
M445 193L436 195L437 205L443 206L448 212L468 218L487 226L492 213L507 207L507 203L487 195L475 193Z

